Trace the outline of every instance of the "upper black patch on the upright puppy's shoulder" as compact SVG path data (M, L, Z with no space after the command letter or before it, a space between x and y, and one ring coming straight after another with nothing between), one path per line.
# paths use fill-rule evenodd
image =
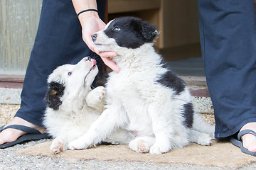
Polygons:
M175 94L180 94L186 87L185 82L178 78L174 72L167 71L156 80L157 83L169 87L170 89L174 89L176 91Z

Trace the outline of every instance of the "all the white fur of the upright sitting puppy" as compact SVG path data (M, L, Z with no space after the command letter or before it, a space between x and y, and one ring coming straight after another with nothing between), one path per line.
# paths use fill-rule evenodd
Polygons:
M117 52L112 60L121 71L110 73L106 110L85 135L70 142L70 149L96 145L118 129L128 130L135 136L129 147L136 152L161 154L189 142L210 145L214 127L205 123L201 115L194 113L193 128L183 125L182 106L191 103L188 88L175 95L174 89L155 82L159 74L168 70L159 64L161 56L156 54L152 43L136 49L119 47L102 30L97 32L95 44L97 50Z

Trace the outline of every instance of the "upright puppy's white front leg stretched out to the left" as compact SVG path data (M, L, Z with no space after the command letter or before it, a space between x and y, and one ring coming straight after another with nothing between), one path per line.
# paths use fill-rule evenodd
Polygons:
M92 123L85 135L70 142L68 149L86 149L87 147L92 147L102 140L105 140L107 135L110 135L115 127L124 124L119 117L119 109L116 107L107 108L100 117Z

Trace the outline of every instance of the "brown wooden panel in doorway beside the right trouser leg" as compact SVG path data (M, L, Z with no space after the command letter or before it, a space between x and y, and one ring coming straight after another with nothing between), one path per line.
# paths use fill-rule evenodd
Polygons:
M161 0L159 48L200 42L196 0Z

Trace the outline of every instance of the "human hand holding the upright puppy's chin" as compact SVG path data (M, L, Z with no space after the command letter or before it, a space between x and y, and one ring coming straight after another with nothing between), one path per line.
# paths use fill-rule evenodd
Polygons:
M88 11L85 13L81 13L79 15L79 20L82 26L82 40L85 41L87 46L93 52L100 55L102 61L110 67L110 69L114 70L114 72L119 72L120 68L117 66L115 62L113 62L110 57L117 56L116 52L100 52L95 47L95 44L92 42L91 35L97 31L103 30L106 24L99 18L95 11Z

